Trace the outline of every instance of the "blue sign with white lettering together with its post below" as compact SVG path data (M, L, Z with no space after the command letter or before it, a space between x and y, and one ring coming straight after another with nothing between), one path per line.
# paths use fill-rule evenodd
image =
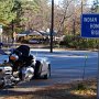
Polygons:
M81 15L81 37L99 38L99 14ZM97 42L98 44L99 42ZM99 99L99 44L98 44L98 70L97 70L97 99Z

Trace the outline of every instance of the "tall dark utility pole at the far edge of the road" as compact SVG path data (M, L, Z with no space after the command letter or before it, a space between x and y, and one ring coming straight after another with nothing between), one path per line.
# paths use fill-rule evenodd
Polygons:
M51 53L53 53L53 32L54 32L54 0L52 0Z

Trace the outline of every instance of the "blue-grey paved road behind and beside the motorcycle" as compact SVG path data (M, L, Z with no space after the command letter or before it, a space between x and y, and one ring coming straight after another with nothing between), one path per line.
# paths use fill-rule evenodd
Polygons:
M32 79L22 82L11 90L33 90L34 88L52 86L55 84L66 84L73 80L97 77L98 53L91 51L54 51L33 48L31 54L47 57L51 62L52 76L50 79ZM6 95L8 90L0 90L0 95ZM10 89L9 89L10 91ZM12 91L11 91L12 92ZM9 94L11 94L9 92Z

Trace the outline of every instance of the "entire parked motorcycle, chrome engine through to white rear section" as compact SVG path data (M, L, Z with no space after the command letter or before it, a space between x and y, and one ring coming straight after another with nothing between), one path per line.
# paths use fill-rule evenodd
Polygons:
M0 50L0 52L4 55L3 51ZM0 87L14 86L20 81L28 81L32 78L47 79L51 77L50 61L46 57L31 55L30 47L26 45L11 50L11 53L6 54L3 58L4 61L1 61L0 64Z

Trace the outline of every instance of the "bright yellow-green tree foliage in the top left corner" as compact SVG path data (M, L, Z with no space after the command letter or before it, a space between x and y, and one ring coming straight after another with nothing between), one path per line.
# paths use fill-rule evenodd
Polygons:
M7 25L15 19L16 13L12 12L13 0L0 0L0 24Z

